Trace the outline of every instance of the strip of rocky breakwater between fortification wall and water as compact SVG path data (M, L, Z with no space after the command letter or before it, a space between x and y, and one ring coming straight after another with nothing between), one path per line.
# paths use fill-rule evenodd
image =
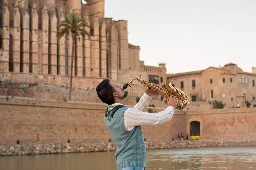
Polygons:
M145 142L147 149L169 149L188 147L218 147L218 146L256 146L256 141L154 141ZM21 144L0 145L0 156L5 155L38 155L38 154L62 154L79 152L103 152L115 151L116 144L109 143L50 143L50 144Z

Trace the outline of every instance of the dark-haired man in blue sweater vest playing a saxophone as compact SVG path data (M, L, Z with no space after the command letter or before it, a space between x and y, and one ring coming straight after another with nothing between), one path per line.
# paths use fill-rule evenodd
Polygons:
M157 86L157 84L153 85ZM123 104L126 93L121 86L109 79L99 83L96 91L101 101L109 105L105 111L104 122L117 145L115 153L117 169L129 170L131 167L136 170L145 169L146 145L141 125L160 125L169 121L173 117L174 108L182 101L171 95L169 106L154 114L143 112L154 93L149 88L146 88L145 93L133 108Z

